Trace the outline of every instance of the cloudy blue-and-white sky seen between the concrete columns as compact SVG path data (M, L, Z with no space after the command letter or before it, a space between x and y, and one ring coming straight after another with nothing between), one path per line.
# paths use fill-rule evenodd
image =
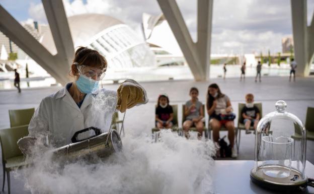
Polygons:
M156 0L63 0L67 16L100 13L120 19L140 31L142 14L159 15ZM177 0L193 40L197 40L196 0ZM0 0L19 22L47 24L40 0ZM307 0L307 22L311 21L314 0ZM281 39L292 35L290 0L214 0L211 53L277 53Z

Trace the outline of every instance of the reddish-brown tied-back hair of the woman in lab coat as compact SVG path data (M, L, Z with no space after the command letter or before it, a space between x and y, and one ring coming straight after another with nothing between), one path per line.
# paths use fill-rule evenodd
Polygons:
M97 50L93 50L87 47L79 46L75 52L73 64L77 66L85 65L99 68L106 72L107 60Z

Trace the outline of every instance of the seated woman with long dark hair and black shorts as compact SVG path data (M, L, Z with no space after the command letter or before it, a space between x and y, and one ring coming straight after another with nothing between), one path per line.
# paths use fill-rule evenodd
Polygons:
M232 111L230 99L227 95L222 94L217 84L208 86L207 91L207 113L209 115L209 124L213 131L213 140L218 143L219 130L221 126L225 126L228 130L228 140L231 147L231 157L238 156L237 150L234 149L234 118L236 117Z

